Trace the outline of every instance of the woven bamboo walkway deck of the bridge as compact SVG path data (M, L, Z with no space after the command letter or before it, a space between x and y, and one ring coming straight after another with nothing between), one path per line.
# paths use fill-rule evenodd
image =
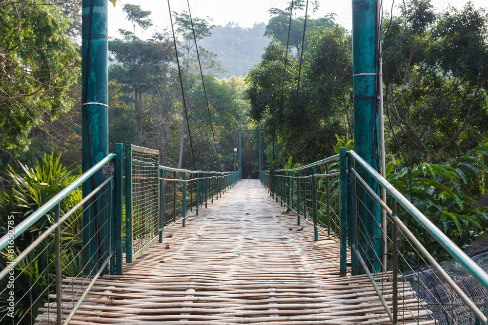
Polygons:
M101 277L70 324L391 324L366 276L339 277L339 244L314 242L284 210L243 180L185 228L165 229L122 275ZM427 313L404 287L405 324L434 324L408 318Z

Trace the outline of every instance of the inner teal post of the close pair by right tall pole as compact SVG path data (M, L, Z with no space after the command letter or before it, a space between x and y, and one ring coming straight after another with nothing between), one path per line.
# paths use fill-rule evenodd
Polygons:
M346 275L347 267L347 157L346 148L341 148L340 152L340 182L341 182L341 256L340 274Z

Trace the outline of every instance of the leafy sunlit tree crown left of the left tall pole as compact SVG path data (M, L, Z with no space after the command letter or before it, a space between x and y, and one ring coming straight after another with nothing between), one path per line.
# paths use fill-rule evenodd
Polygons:
M70 20L61 7L2 4L0 12L1 145L26 150L29 133L46 118L69 111L68 91L80 74L78 46L66 35Z

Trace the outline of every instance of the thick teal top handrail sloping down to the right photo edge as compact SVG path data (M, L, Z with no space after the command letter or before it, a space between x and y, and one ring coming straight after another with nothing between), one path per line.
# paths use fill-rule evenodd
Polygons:
M354 151L349 151L356 162L363 167L373 178L393 196L410 213L427 232L434 237L441 246L451 254L485 289L488 289L488 274L468 255L454 244L439 228L437 228L427 217L418 210L405 196L393 187L382 175L376 172L366 161Z

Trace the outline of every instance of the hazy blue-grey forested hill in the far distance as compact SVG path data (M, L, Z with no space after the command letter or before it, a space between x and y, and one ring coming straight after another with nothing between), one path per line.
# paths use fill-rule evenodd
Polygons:
M217 77L245 75L261 62L264 48L270 41L263 36L265 26L262 22L255 23L251 28L243 28L229 22L225 26L216 26L212 29L212 36L199 42L200 47L217 54L217 58L222 61L227 75Z

